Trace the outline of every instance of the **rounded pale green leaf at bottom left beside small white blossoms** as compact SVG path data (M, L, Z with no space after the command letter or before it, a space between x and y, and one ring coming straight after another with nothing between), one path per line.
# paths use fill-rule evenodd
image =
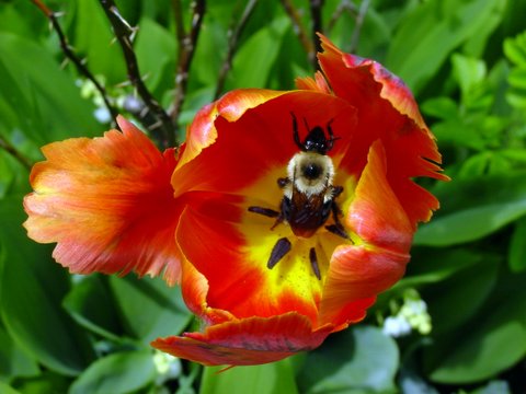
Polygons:
M96 360L73 382L69 394L125 394L153 382L150 350L123 351Z

